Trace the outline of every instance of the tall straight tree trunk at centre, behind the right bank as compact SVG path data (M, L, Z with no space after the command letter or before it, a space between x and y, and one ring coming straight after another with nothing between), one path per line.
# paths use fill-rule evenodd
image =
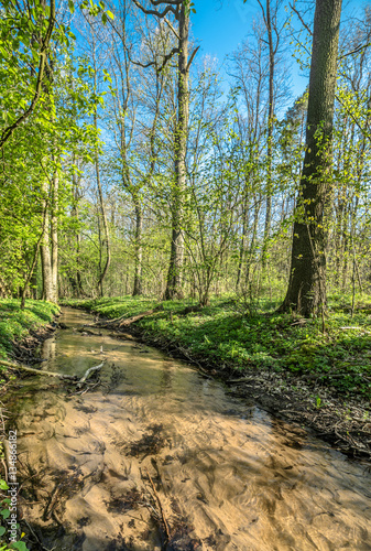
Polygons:
M188 137L188 32L189 14L185 3L179 11L178 41L178 89L177 89L177 125L175 130L175 182L172 205L172 246L165 300L182 296L183 233L182 204L186 185L186 152Z

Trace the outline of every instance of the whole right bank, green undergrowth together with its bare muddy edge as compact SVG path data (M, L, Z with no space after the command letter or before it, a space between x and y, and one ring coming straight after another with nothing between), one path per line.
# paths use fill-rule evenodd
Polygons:
M159 302L123 296L65 304L98 314L99 322L120 318L112 331L129 329L222 379L233 396L254 398L336 449L371 458L371 303L359 303L352 316L334 303L325 333L320 320L263 312L236 299L212 299L196 312L185 311L196 304L189 300L162 302L130 327L122 322Z

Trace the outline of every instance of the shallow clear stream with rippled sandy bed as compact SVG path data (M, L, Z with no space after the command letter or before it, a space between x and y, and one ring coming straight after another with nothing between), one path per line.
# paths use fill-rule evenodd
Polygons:
M9 397L33 549L371 550L364 466L159 350L79 333L88 314L61 320L42 369L106 364L88 392L33 377Z

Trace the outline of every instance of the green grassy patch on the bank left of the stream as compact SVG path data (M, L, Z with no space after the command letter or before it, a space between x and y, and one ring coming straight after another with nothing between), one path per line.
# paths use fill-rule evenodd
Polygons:
M20 341L30 329L46 325L57 312L58 307L51 302L28 300L21 310L19 300L0 300L0 359L8 357L12 341Z

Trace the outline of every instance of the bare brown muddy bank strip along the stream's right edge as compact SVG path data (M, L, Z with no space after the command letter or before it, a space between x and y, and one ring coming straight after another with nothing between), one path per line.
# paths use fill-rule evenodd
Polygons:
M220 368L208 357L195 356L174 339L157 337L150 331L132 324L126 332L166 354L196 365L212 377L222 380L230 392L253 399L266 411L283 420L305 424L336 450L362 461L371 462L371 407L361 398L337 396L324 386L319 377L279 374L253 368L239 372L231 367ZM119 328L117 328L119 334Z

